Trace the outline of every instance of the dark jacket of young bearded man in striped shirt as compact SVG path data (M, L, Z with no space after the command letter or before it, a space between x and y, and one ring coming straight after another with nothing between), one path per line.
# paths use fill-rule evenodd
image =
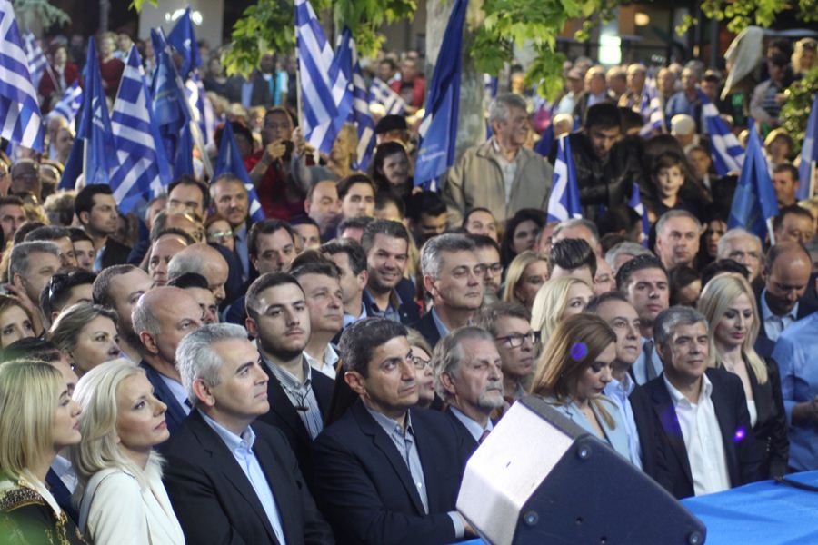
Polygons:
M304 422L295 411L293 403L287 397L281 383L274 374L263 365L264 372L270 377L267 381L267 400L270 401L270 411L258 418L266 424L274 426L284 432L290 448L293 449L295 459L301 466L301 472L307 482L312 482L313 478L313 441L310 434L304 428ZM315 400L318 401L318 408L321 409L322 421L326 419L326 411L329 410L330 398L333 396L334 381L322 372L312 372L313 391Z

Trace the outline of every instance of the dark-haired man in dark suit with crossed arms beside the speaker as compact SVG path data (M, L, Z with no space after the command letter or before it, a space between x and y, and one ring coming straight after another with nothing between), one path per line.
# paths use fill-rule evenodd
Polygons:
M417 372L398 322L374 317L341 338L359 400L314 442L314 493L342 543L450 543L473 531L454 503L468 456L443 414L415 409Z

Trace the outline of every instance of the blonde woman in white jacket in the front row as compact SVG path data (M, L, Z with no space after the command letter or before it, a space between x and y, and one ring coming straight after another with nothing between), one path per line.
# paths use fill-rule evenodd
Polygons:
M76 384L83 441L71 451L80 529L96 545L185 543L162 484L154 447L170 437L165 403L145 372L122 359L105 362Z

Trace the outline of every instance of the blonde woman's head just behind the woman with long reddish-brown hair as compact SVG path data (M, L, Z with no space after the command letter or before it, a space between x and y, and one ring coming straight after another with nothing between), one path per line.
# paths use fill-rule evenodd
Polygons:
M540 332L541 346L548 342L559 322L583 312L592 297L591 286L571 276L545 282L534 297L531 311L531 329Z

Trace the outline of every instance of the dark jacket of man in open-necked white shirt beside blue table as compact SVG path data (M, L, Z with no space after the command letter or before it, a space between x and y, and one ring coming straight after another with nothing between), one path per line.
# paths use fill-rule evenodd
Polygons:
M763 453L750 433L742 381L723 369L708 369L706 373L713 383L711 399L722 431L731 485L759 481L763 478ZM637 387L630 400L642 445L643 470L676 498L693 496L690 461L663 375ZM745 435L737 441L735 434L739 430L744 430Z

